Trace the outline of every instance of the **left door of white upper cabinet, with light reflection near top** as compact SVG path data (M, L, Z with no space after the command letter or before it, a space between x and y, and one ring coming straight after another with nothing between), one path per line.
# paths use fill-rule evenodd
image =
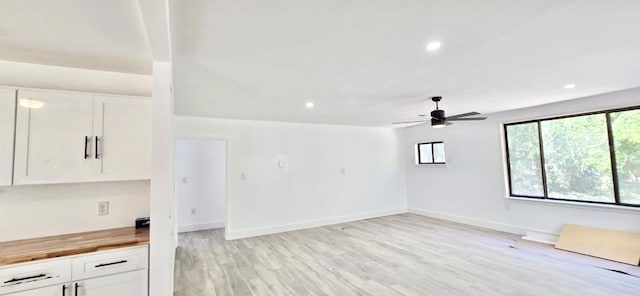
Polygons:
M84 181L91 176L93 97L20 90L14 184Z

